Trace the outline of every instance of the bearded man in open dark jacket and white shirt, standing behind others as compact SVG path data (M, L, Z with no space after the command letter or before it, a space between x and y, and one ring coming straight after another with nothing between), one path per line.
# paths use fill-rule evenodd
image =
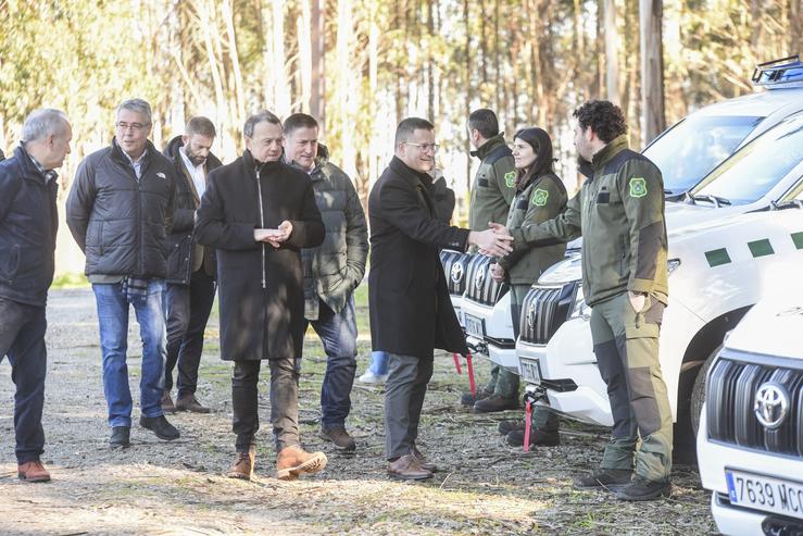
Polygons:
M199 245L193 229L209 172L222 165L210 152L215 134L215 125L209 119L192 117L184 135L173 138L164 150L164 155L173 161L177 179L176 210L167 239L167 290L164 295L167 361L162 410L170 413L209 413L209 408L196 398L196 388L203 332L215 301L215 250ZM178 394L174 406L171 389L176 364Z

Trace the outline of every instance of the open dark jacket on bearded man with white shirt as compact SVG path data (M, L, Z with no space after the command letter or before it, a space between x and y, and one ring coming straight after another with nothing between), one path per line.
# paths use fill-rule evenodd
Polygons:
M215 250L200 246L193 237L195 213L201 205L192 177L187 171L179 149L184 147L181 136L176 136L167 144L164 155L173 161L176 169L176 211L173 216L173 229L167 236L167 283L189 285L190 275L203 266L208 275L215 275ZM206 179L209 173L223 163L210 153L203 164Z

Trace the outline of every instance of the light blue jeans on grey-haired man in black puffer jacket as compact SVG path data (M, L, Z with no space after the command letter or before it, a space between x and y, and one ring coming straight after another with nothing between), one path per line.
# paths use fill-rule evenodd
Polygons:
M142 339L142 369L139 381L139 404L143 416L162 415L162 371L166 354L166 331L162 309L163 279L148 282L148 295L129 300L123 285L92 284L98 304L100 348L103 356L103 394L109 406L111 426L131 425L131 391L128 388L128 306L139 323Z

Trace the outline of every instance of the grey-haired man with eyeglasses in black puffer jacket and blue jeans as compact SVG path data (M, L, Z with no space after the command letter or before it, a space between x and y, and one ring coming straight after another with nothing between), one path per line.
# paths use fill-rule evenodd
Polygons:
M70 230L86 254L86 275L98 308L103 392L112 427L109 445L126 448L133 406L126 365L131 307L142 339L139 424L163 440L179 436L161 404L166 353L162 291L176 178L173 163L148 140L148 102L123 101L115 125L112 145L78 166L66 212Z

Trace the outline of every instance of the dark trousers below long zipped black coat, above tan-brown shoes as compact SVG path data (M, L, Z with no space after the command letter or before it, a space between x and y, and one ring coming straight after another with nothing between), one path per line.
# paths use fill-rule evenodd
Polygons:
M286 447L300 445L299 440L299 367L292 358L268 360L271 366L271 424L273 424L276 453ZM248 452L256 445L260 429L259 392L262 361L235 361L231 376L231 431L237 434L235 447Z

